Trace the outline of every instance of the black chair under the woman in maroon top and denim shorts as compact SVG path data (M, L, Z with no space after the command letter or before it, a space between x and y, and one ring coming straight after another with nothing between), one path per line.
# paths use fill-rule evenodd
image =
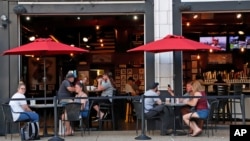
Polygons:
M211 124L212 136L214 135L213 127L216 129L217 117L214 117L214 113L217 112L217 109L219 106L219 100L213 100L209 104L210 104L209 114L206 118L195 118L195 117L190 118L190 121L193 119L200 119L200 120L204 121L204 123L206 125L205 132L207 132L208 137L209 137L208 125ZM192 115L190 115L190 116L192 116Z

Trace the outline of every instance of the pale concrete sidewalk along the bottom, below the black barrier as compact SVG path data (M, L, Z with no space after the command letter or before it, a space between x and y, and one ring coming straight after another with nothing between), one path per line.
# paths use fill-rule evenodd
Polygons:
M140 135L140 132L139 132ZM155 131L154 134L147 133L147 136L151 137L152 141L229 141L229 126L218 127L217 132L214 133L214 136L211 135L208 137L207 134L203 133L198 137L191 136L160 136L158 131ZM90 135L86 132L83 137L81 137L80 132L75 132L74 136L66 136L65 141L131 141L135 140L137 137L134 130L130 131L91 131ZM47 141L52 137L41 137L40 141ZM11 141L10 135L7 139L4 136L0 136L0 141ZM20 136L18 134L13 134L12 141L20 141Z

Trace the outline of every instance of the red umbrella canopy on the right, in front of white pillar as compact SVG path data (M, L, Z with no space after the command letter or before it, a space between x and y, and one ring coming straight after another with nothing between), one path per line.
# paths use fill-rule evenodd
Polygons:
M183 36L168 35L163 39L130 49L127 52L148 51L157 53L157 52L167 52L167 51L210 50L210 49L220 50L217 47L193 41Z

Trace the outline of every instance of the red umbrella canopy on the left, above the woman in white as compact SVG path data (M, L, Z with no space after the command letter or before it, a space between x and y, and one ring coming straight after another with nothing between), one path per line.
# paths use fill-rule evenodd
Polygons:
M59 55L70 53L84 53L88 50L72 47L63 43L55 42L51 38L39 38L32 43L21 45L4 51L3 55Z

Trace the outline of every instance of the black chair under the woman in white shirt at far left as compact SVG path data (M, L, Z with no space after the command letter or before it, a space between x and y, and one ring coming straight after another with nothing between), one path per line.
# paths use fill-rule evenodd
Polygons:
M12 128L15 124L18 124L18 129L20 129L20 123L21 122L26 122L25 121L13 121L13 116L12 116L12 108L9 104L2 104L2 110L3 110L3 117L4 117L4 122L5 122L5 139L7 139L7 133L11 134L11 140L12 140ZM16 112L20 113L20 112ZM9 132L8 132L9 129Z

